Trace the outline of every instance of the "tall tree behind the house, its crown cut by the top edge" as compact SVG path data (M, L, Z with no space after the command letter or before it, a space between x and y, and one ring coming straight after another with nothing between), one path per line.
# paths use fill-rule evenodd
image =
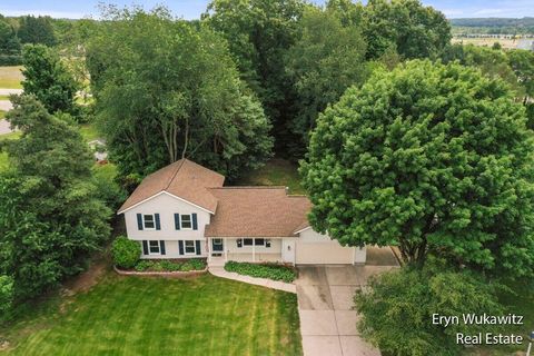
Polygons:
M298 37L303 0L214 0L204 22L222 33L241 79L259 97L274 125L277 147L293 139L294 86L284 71L284 55Z

